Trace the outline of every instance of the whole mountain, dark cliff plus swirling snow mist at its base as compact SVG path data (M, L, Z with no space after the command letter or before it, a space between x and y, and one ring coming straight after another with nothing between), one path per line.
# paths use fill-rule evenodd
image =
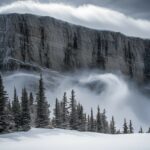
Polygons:
M108 110L109 119L115 115L120 128L127 116L135 122L136 131L140 125L145 130L149 126L149 97L132 83L132 79L142 84L149 81L149 45L149 40L51 17L0 15L0 69L10 98L14 87L19 96L23 87L35 95L42 72L51 109L56 97L61 99L64 92L69 97L74 89L86 112L100 105Z

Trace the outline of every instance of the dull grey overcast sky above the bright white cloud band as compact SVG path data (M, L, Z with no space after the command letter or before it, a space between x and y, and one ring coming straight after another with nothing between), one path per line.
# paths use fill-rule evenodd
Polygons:
M17 0L0 0L0 5L10 4ZM42 3L65 2L74 5L94 4L104 6L135 18L150 20L150 0L35 0Z

